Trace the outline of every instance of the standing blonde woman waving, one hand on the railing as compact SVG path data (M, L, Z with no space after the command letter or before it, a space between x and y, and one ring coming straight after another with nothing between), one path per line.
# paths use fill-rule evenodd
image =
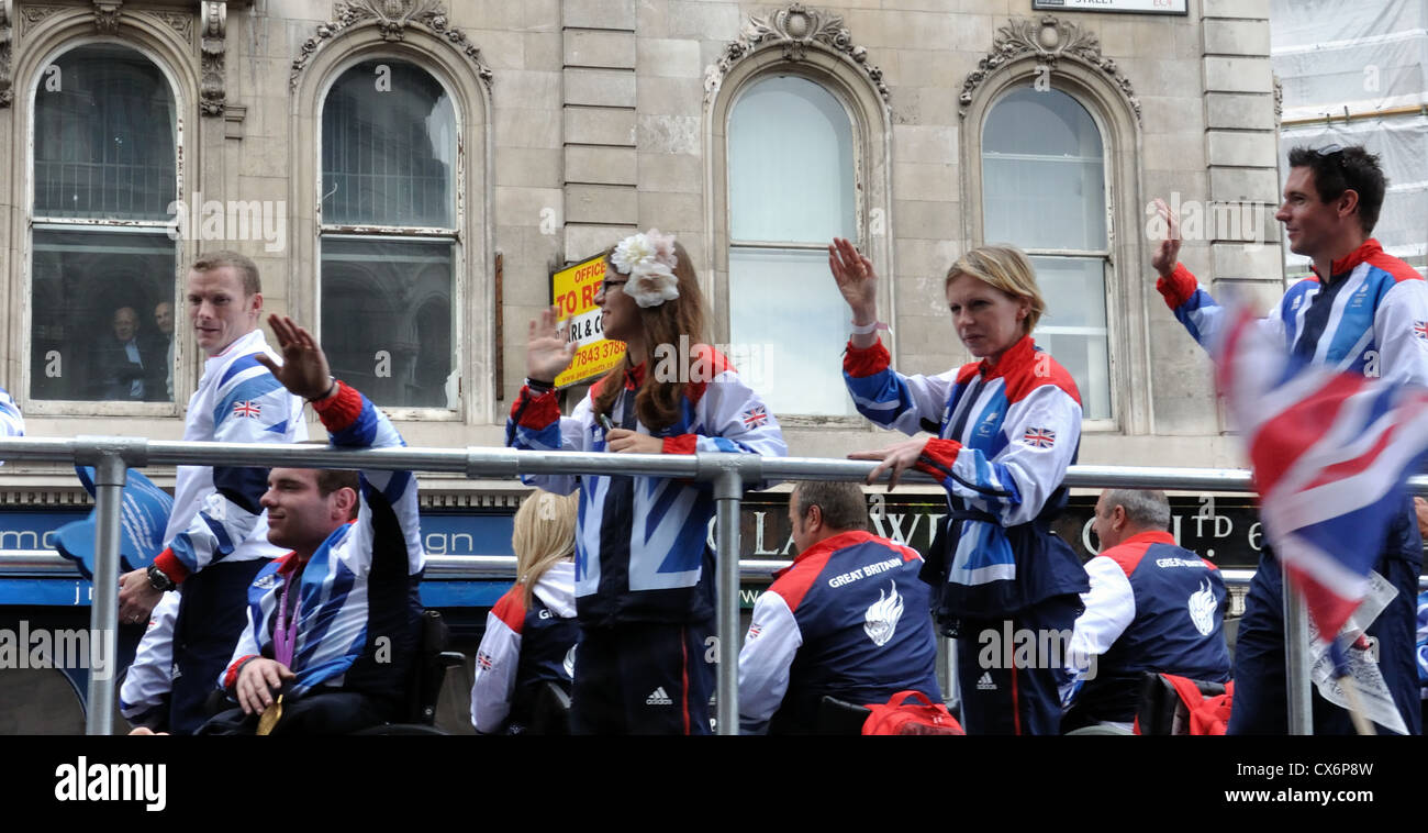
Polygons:
M1037 277L1017 249L972 249L947 270L952 327L980 361L937 376L904 376L878 340L877 274L853 243L835 239L828 267L853 310L843 361L848 393L874 423L905 434L878 452L873 483L891 490L915 467L947 490L948 517L928 556L932 612L957 640L962 724L968 734L1055 734L1060 656L1090 589L1081 562L1051 533L1065 506L1061 484L1081 442L1081 396L1071 374L1031 340L1045 311ZM1038 652L987 650L1035 639ZM1011 662L1007 662L1008 657Z

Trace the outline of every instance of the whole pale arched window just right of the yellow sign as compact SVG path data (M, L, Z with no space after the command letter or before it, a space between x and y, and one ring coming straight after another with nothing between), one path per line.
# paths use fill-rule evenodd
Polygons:
M827 246L857 240L857 209L843 103L797 76L744 90L728 119L731 359L780 414L854 413L830 360L848 316Z

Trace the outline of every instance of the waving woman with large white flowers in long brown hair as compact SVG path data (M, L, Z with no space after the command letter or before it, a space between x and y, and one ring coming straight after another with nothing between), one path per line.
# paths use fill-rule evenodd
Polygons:
M528 379L511 406L516 449L784 456L778 422L728 360L703 343L704 299L688 253L651 229L605 253L594 296L623 361L561 417L555 376L574 346L555 307L531 321ZM575 733L707 734L714 674L714 556L708 487L660 477L533 476L580 490L575 610L583 629L571 693Z

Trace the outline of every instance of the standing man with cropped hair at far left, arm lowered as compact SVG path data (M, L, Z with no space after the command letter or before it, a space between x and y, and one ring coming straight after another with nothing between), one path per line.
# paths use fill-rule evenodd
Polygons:
M207 360L188 400L184 440L307 439L303 400L263 361L276 354L258 329L261 289L257 266L237 251L201 256L190 269L188 317ZM167 549L147 570L120 580L121 623L146 622L166 590L181 590L171 634L151 630L139 646L140 653L173 652L169 729L174 733L203 723L213 680L243 629L247 586L267 560L286 552L267 540L267 516L258 504L266 484L266 469L178 466Z

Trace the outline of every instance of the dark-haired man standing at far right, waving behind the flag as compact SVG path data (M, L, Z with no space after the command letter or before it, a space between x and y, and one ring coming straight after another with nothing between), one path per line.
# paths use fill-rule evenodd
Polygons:
M1387 190L1378 157L1359 146L1295 147L1289 166L1275 219L1284 223L1289 250L1314 260L1314 277L1289 287L1262 326L1307 361L1428 386L1428 283L1369 237ZM1224 310L1177 263L1175 219L1162 201L1160 206L1170 234L1151 261L1160 273L1155 289L1190 334L1210 344ZM1405 499L1374 566L1398 594L1368 627L1368 636L1378 643L1378 667L1409 734L1418 734L1421 726L1414 669L1414 599L1421 569L1422 539ZM1234 677L1230 733L1285 733L1281 567L1268 547L1245 599ZM1354 732L1348 713L1317 690L1314 732Z

